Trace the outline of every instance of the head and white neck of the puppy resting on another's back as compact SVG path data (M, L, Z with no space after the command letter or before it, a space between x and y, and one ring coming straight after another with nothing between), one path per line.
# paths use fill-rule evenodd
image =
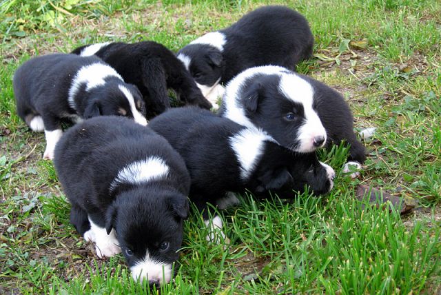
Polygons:
M223 116L262 128L294 152L313 152L327 133L316 111L314 88L298 74L280 67L249 69L227 85Z

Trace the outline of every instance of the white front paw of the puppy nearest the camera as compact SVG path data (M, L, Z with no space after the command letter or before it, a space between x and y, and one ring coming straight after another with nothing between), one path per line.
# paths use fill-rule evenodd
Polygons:
M84 233L84 239L95 243L96 255L99 258L112 257L115 254L121 253L118 240L116 239L116 232L114 229L107 234L104 227L96 225L88 216L90 223L90 230Z

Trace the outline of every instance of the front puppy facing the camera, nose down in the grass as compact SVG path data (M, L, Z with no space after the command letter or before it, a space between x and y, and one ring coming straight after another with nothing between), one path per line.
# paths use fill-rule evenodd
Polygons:
M133 278L170 282L190 185L170 144L129 119L99 116L65 132L54 165L72 204L70 221L96 255L122 251Z

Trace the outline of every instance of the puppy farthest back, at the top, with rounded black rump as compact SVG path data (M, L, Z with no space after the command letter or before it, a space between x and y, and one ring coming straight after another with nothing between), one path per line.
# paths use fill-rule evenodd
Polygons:
M314 37L305 17L285 6L258 8L223 30L210 32L178 52L178 59L214 105L236 74L258 65L294 70L312 54Z

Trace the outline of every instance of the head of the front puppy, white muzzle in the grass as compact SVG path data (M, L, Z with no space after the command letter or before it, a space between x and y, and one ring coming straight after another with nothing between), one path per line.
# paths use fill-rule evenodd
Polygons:
M139 185L119 193L107 210L106 230L115 229L134 279L170 282L188 214L187 197L173 190Z

